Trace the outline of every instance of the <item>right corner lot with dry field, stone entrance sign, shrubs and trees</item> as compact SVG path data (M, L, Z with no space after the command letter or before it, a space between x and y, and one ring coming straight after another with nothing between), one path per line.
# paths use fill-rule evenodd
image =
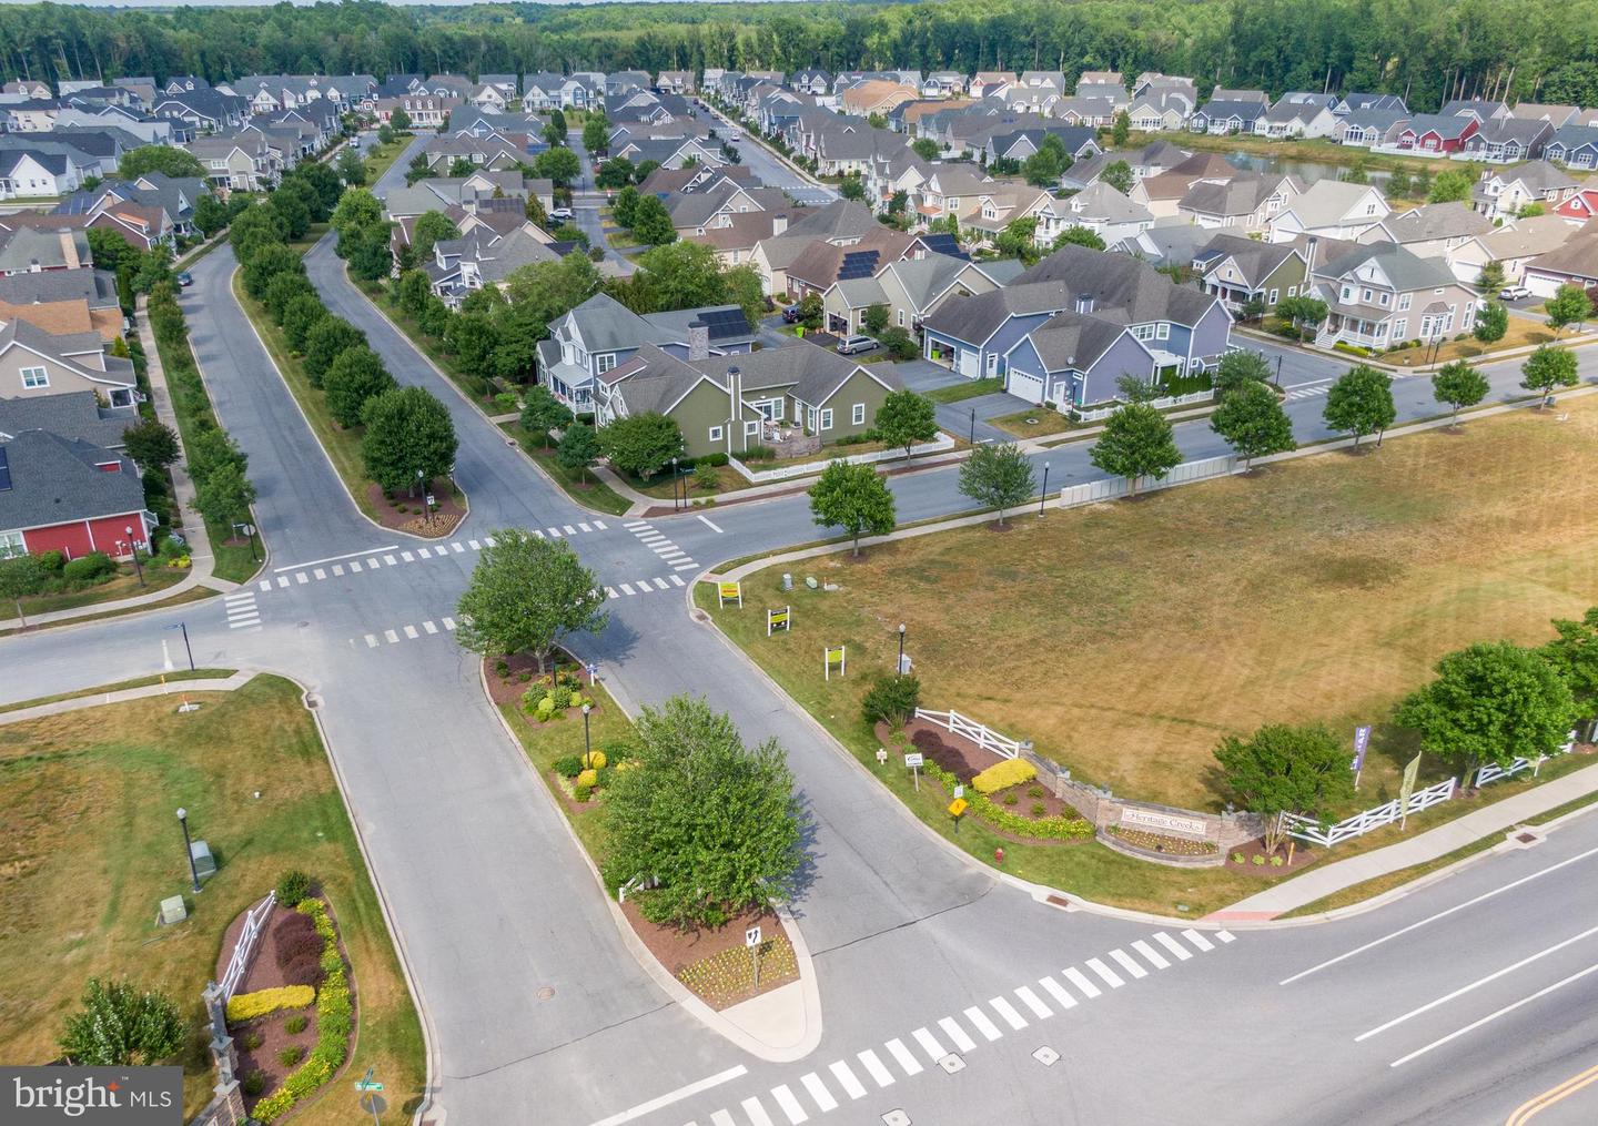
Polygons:
M713 585L695 599L866 770L975 856L992 861L1004 848L1005 870L1039 883L1202 914L1315 858L1398 839L1393 824L1331 850L1299 843L1288 864L1291 821L1277 826L1274 815L1328 824L1379 807L1405 789L1417 754L1414 792L1459 784L1413 813L1411 832L1534 784L1537 755L1552 755L1540 781L1590 762L1585 744L1577 754L1560 746L1571 722L1590 716L1598 684L1580 680L1593 672L1574 656L1598 629L1588 615L1598 484L1569 473L1598 457L1598 404L1568 399L1558 414L1517 410L1366 450L1013 517L1005 535L964 527L876 545L861 559L775 562L743 575L743 609L719 605ZM789 629L767 634L765 612L781 607L791 607ZM1563 621L1558 634L1550 620ZM967 762L967 779L932 741L972 755L957 732L911 728L906 741L896 725L879 727L880 716L868 719L868 695L892 676L900 623L922 708L957 709L1021 741L1018 757L1043 763L1036 781L994 800L975 779L996 755ZM1517 644L1472 647L1497 639ZM837 647L847 676L834 660L826 679L823 652ZM1561 661L1558 677L1537 672ZM1456 695L1459 685L1472 684L1481 698L1521 685L1513 693L1531 703L1504 709L1507 728L1454 722L1472 692ZM900 711L909 714L903 701ZM1373 730L1355 789L1358 725ZM919 791L906 752L922 755ZM1528 767L1475 787L1477 767L1517 755ZM1309 778L1291 792L1275 784L1285 762ZM959 826L948 810L954 784L968 803ZM1053 797L1075 808L1056 813ZM1168 808L1123 818L1112 845L1214 867L1146 864L1085 843L1087 827L1066 829L1074 813L1127 800ZM1270 816L1250 824L1245 811L1256 810ZM1059 839L1039 840L1036 826L1050 818L1063 818ZM1202 824L1213 831L1197 832ZM1099 826L1103 842L1103 815ZM1267 829L1274 851L1246 843ZM1183 843L1197 840L1214 846Z

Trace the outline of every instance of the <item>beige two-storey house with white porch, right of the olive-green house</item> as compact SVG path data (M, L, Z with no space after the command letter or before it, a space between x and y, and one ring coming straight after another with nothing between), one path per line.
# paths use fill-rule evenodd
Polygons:
M1392 243L1358 244L1310 260L1310 292L1328 316L1315 343L1385 350L1408 340L1469 332L1477 294L1443 259L1422 259Z

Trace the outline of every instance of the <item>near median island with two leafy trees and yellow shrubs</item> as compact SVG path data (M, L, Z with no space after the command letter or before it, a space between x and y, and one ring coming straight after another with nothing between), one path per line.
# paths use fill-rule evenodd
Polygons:
M804 816L781 747L748 747L703 700L636 722L561 640L607 623L566 541L499 530L483 549L457 639L638 939L711 1008L756 993L745 947L761 928L759 992L797 976L773 910L802 866ZM711 816L713 815L713 816ZM733 862L735 861L735 862Z

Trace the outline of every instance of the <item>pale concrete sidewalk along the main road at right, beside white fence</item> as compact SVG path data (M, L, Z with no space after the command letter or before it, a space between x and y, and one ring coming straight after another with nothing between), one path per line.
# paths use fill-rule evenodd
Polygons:
M1505 797L1475 813L1454 818L1437 829L1416 834L1397 845L1387 845L1361 856L1350 856L1346 861L1322 862L1304 875L1278 883L1274 888L1266 888L1230 907L1206 915L1203 922L1266 922L1296 910L1304 904L1315 902L1334 891L1352 888L1355 883L1448 856L1454 850L1475 843L1483 837L1507 832L1539 813L1556 810L1561 805L1595 792L1598 792L1598 765L1584 767L1552 783L1544 783L1513 797Z

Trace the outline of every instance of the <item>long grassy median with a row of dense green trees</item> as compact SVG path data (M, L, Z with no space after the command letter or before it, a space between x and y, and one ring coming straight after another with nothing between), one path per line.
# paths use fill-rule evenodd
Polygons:
M360 203L369 192L337 195L336 179L332 188L286 180L233 220L233 295L356 508L384 527L447 537L467 513L449 478L459 442L447 407L425 388L395 383L366 335L323 307L300 260L310 243L288 241L329 214L334 227L368 220Z

